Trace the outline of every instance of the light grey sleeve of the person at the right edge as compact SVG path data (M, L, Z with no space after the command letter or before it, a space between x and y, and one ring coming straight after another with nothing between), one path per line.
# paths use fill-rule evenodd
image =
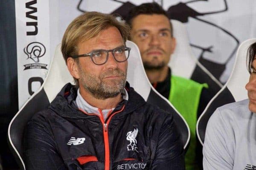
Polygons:
M229 121L219 109L209 119L203 147L204 170L233 170L235 139Z

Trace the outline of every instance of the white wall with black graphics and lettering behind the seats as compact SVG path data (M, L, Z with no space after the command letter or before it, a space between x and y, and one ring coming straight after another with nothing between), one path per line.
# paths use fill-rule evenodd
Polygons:
M76 16L100 11L125 18L131 7L146 2L153 0L16 0L19 107L43 82L55 47ZM186 24L195 57L220 82L226 82L239 42L256 37L256 1L155 2L163 6L170 19Z

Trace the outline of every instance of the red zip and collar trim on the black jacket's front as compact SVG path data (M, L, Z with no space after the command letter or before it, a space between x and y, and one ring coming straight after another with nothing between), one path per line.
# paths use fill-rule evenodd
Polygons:
M103 118L103 114L102 111L99 109L100 115L98 114L88 114L85 111L81 110L83 113L87 114L87 115L96 115L99 117L100 121L102 122L102 126L103 126L103 137L104 137L104 147L105 147L105 170L109 170L110 167L110 152L109 152L109 141L108 141L108 124L111 120L111 118L116 114L119 113L121 111L123 111L123 109L125 108L125 105L123 105L122 109L119 111L116 111L115 113L111 114L111 116L109 117L108 121L105 122L104 118Z

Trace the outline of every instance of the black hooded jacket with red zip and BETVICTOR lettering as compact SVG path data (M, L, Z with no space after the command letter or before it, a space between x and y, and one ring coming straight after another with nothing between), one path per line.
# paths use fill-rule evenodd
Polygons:
M49 108L29 121L24 139L27 170L184 170L184 153L170 113L149 105L126 85L108 119L73 104L76 91L62 88Z

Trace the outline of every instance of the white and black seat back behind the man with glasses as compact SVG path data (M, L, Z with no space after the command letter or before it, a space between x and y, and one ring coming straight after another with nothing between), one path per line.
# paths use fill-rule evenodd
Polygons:
M127 41L126 45L131 47L131 54L128 59L127 81L147 102L152 105L158 105L163 110L173 114L174 120L181 133L184 149L186 150L190 139L189 127L186 121L172 107L167 99L163 98L154 90L154 88L152 88L145 74L137 45L130 41ZM60 46L61 45L58 45L56 48L55 56L52 59L45 82L39 91L33 94L33 96L31 96L31 98L23 105L9 124L8 141L10 148L13 151L20 168L23 170L25 170L23 162L23 133L27 122L35 113L47 108L67 82L73 82L73 77L71 77L62 57Z

